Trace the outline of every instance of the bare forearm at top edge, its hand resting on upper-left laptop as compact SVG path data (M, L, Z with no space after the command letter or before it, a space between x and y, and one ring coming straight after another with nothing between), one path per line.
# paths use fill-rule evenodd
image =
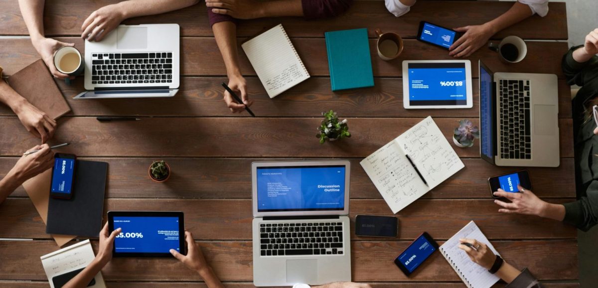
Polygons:
M114 5L119 5L120 11L123 11L124 19L129 19L175 11L197 4L197 2L199 0L129 0Z

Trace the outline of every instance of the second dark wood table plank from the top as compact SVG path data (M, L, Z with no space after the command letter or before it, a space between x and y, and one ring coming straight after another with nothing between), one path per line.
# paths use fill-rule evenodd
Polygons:
M73 42L82 52L83 40L77 37L58 38L60 41ZM293 38L297 53L303 59L307 71L312 76L328 76L328 56L323 38ZM370 39L370 54L374 76L401 76L402 60L451 60L446 50L425 44L416 40L405 40L405 49L400 57L392 61L380 59L376 52L376 40ZM568 50L566 42L527 42L527 57L520 63L505 64L499 60L498 54L483 48L467 59L471 60L472 76L478 75L478 60L482 59L495 72L527 72L553 73L564 78L561 71L561 58ZM182 38L181 39L181 74L182 75L226 75L224 62L216 41L213 38ZM255 75L245 53L239 47L240 67L243 75ZM25 68L39 59L39 56L29 39L0 39L0 55L6 75ZM76 81L83 81L79 77Z

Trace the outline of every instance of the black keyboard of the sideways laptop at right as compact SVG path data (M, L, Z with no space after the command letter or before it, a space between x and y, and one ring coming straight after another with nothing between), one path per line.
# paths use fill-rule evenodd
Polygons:
M531 159L529 80L499 82L501 158Z

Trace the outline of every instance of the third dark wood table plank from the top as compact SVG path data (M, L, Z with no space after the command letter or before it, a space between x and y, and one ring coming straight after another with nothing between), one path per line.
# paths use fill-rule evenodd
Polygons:
M246 78L248 93L255 100L252 109L260 117L320 117L323 107L334 108L343 117L478 117L479 84L473 81L472 109L405 109L403 108L402 79L376 78L375 86L358 90L332 92L329 78L310 78L283 95L270 99L260 79ZM174 98L102 99L88 101L72 99L83 88L83 81L66 85L56 81L71 106L69 115L139 115L139 116L226 116L233 114L222 100L221 82L227 78L182 77L181 91ZM559 79L559 117L571 117L571 90L565 79ZM123 105L126 101L127 105ZM258 112L259 111L259 112ZM0 106L0 116L14 115L7 106Z

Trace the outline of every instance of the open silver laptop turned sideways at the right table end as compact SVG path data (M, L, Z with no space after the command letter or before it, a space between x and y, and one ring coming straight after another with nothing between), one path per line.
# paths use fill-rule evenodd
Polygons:
M480 155L497 166L557 167L557 75L493 73L480 61Z

